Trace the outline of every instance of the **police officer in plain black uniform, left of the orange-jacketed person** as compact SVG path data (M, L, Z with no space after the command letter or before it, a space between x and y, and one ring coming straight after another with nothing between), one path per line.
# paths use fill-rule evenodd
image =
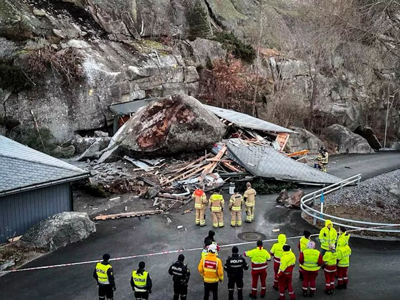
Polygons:
M178 261L170 266L168 273L172 276L174 282L174 300L186 300L188 294L188 282L190 277L190 271L188 267L183 263L185 256L179 254Z

